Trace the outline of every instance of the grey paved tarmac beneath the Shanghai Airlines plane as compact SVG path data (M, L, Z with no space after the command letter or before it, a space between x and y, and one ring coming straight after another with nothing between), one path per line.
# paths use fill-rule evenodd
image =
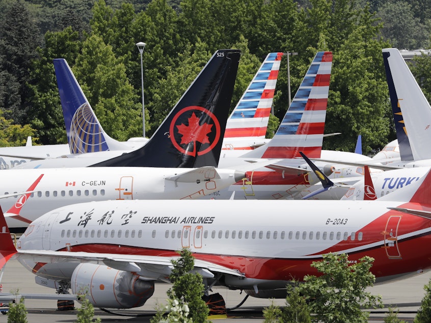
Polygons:
M369 288L369 290L373 294L382 295L382 300L385 304L391 304L392 307L398 308L398 317L400 319L413 322L413 318L425 293L423 286L428 283L430 278L431 272L427 272L397 282L376 285ZM1 283L4 292L18 289L21 293L55 294L52 289L37 285L34 281L34 275L26 271L16 260L10 260L7 263ZM169 287L169 284L156 284L153 297L144 306L132 310L117 311L122 315L146 316L117 316L96 309L95 317L100 317L102 322L149 322L151 314L155 312L156 304L166 304L166 290ZM213 292L219 292L223 295L227 308L235 307L245 296L244 294L239 294L239 291L227 290L226 288L213 288ZM228 318L217 319L217 321L223 323L262 322L262 309L270 304L270 300L249 297L239 309L229 311ZM275 300L275 304L282 306L284 305L284 300ZM28 310L28 321L31 323L76 321L76 311L57 311L56 300L26 299L25 306ZM75 307L79 307L77 302L75 302ZM369 322L383 322L385 316L386 314L376 313L373 310ZM212 319L212 321L215 320ZM3 322L7 322L6 315L0 315L0 323Z

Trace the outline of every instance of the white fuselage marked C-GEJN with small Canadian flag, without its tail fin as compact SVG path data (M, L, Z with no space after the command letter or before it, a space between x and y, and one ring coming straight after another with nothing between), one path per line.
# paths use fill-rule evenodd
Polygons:
M217 172L215 171L217 170ZM183 175L178 180L168 179ZM0 197L3 194L18 193L15 197L2 199L6 211L13 206L20 193L41 175L36 191L25 202L20 216L27 222L8 217L10 228L22 228L42 214L68 204L132 199L194 199L210 194L234 183L244 173L224 169L181 169L181 168L139 168L98 167L60 169L22 169L2 171ZM220 178L218 177L220 176ZM175 179L175 178L174 178Z

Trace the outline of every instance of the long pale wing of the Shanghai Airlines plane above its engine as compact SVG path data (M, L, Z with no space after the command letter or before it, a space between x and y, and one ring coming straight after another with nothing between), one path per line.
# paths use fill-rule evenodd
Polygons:
M18 253L13 257L24 257L42 263L69 261L104 264L116 270L137 273L143 280L160 281L168 281L173 268L171 260L179 258L179 256L162 257L50 250L18 250ZM203 278L213 278L214 274L217 273L245 277L243 273L237 270L199 259L195 259L195 271L201 274Z

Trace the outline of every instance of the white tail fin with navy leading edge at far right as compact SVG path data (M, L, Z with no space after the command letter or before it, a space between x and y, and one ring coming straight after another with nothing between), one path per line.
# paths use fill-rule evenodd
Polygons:
M401 160L431 158L431 107L396 48L382 49Z

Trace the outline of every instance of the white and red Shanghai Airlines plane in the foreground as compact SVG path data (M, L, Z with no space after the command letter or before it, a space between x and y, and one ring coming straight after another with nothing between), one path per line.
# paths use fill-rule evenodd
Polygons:
M422 248L431 244L431 174L401 191L396 201L80 203L34 221L17 251L0 234L1 253L16 253L39 284L58 292L88 288L102 308L143 305L181 248L192 251L208 289L254 297L284 297L288 281L317 275L311 263L330 252L352 262L373 257L371 271L384 282L431 268L431 249ZM3 213L0 226L7 232Z

